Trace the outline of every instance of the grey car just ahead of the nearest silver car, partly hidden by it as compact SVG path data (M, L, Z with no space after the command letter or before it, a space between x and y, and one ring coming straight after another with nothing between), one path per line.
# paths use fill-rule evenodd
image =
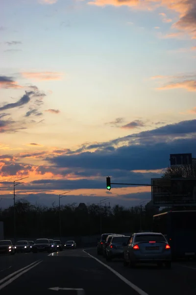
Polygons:
M130 236L111 236L110 242L105 249L107 261L113 258L123 258L124 246L127 245Z

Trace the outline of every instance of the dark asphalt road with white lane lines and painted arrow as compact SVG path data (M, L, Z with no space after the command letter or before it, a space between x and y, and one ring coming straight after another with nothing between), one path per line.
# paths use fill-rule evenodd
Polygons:
M93 248L0 256L1 295L196 295L195 277L196 262L128 268Z

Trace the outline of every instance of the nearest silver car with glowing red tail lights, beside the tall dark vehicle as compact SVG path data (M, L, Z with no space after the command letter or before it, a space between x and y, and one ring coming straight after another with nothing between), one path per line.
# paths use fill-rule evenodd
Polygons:
M124 266L137 263L156 263L171 268L171 248L161 233L135 233L128 240L123 251Z

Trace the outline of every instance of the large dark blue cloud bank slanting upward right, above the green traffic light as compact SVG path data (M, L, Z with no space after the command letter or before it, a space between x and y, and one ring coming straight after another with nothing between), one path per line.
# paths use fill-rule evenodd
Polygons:
M118 144L123 146L115 147ZM108 147L113 149L108 150ZM169 165L170 153L196 150L196 120L181 121L97 145L94 152L48 157L54 167L149 170ZM108 174L109 175L109 174Z

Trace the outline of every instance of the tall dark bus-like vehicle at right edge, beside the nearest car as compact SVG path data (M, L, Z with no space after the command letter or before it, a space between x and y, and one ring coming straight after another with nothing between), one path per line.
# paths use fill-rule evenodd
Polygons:
M156 214L152 230L167 238L172 259L196 258L196 210L170 210Z

